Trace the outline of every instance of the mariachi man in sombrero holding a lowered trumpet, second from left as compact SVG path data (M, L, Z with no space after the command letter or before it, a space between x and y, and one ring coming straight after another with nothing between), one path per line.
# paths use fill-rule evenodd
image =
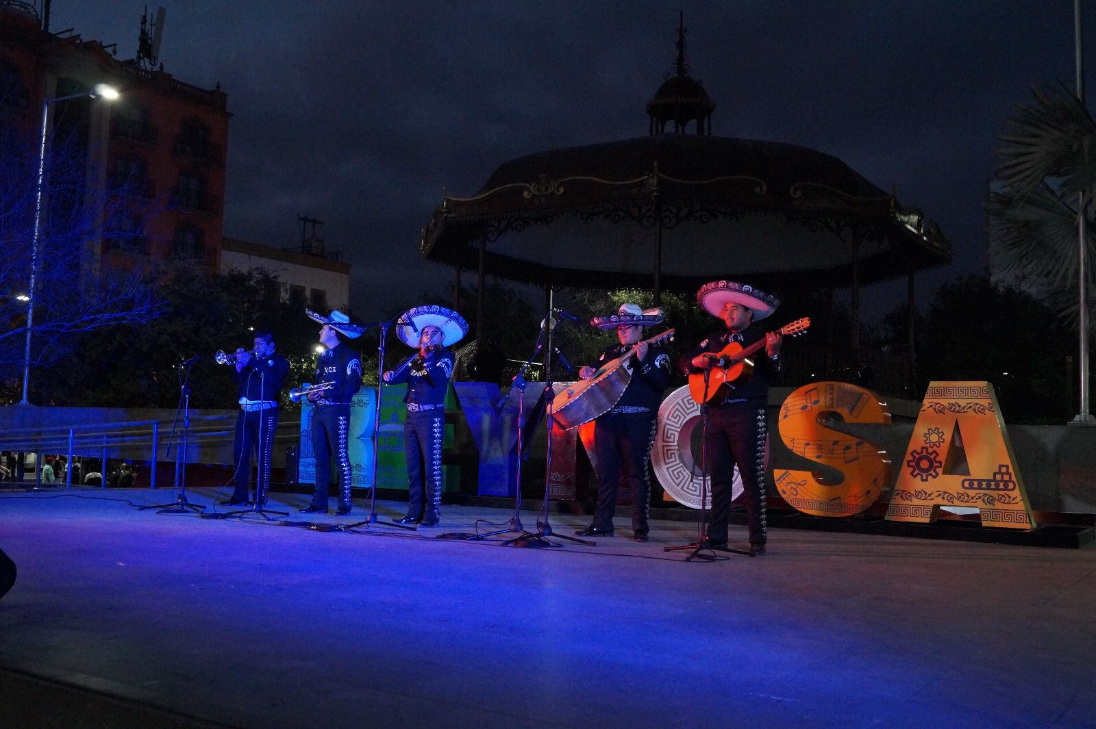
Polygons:
M365 329L351 324L350 317L338 309L330 316L310 309L305 312L309 319L323 325L320 344L324 349L316 361L315 379L317 383L331 383L331 386L308 393L308 400L316 408L311 427L316 488L311 504L300 512L328 512L328 482L331 478L331 455L334 453L339 463L339 510L335 513L346 514L351 509L350 405L362 387L362 360L357 352L340 340L339 335L356 339Z

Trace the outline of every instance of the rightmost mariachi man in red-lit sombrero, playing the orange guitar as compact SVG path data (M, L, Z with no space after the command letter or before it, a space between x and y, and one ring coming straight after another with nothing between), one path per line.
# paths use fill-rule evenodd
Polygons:
M726 367L719 352L732 342L742 347L765 339L765 355L754 358L750 378L742 383L728 383L728 395L712 402L705 435L708 473L711 476L711 522L706 542L711 547L727 546L727 523L731 508L731 486L738 465L745 489L746 521L750 528L750 554L765 554L765 461L767 453L767 416L769 380L780 370L780 343L776 333L766 334L755 322L765 319L780 305L779 299L737 281L711 281L696 293L697 303L726 327L701 342L684 364L689 373L712 367Z

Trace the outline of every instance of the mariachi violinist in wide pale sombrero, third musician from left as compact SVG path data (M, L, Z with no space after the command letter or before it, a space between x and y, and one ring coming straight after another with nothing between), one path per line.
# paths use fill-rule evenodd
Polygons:
M403 455L408 467L408 511L397 523L437 526L442 509L442 438L445 395L455 357L449 347L468 334L468 323L444 306L411 309L397 322L396 334L419 351L384 374L385 384L407 383L403 397Z

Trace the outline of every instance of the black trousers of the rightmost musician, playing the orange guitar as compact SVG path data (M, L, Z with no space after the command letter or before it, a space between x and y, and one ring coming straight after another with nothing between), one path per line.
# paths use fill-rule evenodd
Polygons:
M764 544L765 528L765 448L768 420L765 401L730 403L708 413L705 437L708 473L711 475L711 523L708 539L727 542L727 522L731 510L734 466L742 475L743 497L750 543Z

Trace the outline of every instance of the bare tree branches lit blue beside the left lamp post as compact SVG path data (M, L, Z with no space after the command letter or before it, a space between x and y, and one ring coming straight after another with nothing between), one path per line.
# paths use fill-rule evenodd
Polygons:
M151 286L155 271L101 265L104 242L127 245L142 228L124 183L103 189L94 182L101 171L89 162L95 155L81 128L55 125L41 198L37 135L12 128L0 135L0 381L7 397L18 392L22 373L27 304L16 294L31 292L32 268L35 378L70 356L80 333L147 323L164 312Z

